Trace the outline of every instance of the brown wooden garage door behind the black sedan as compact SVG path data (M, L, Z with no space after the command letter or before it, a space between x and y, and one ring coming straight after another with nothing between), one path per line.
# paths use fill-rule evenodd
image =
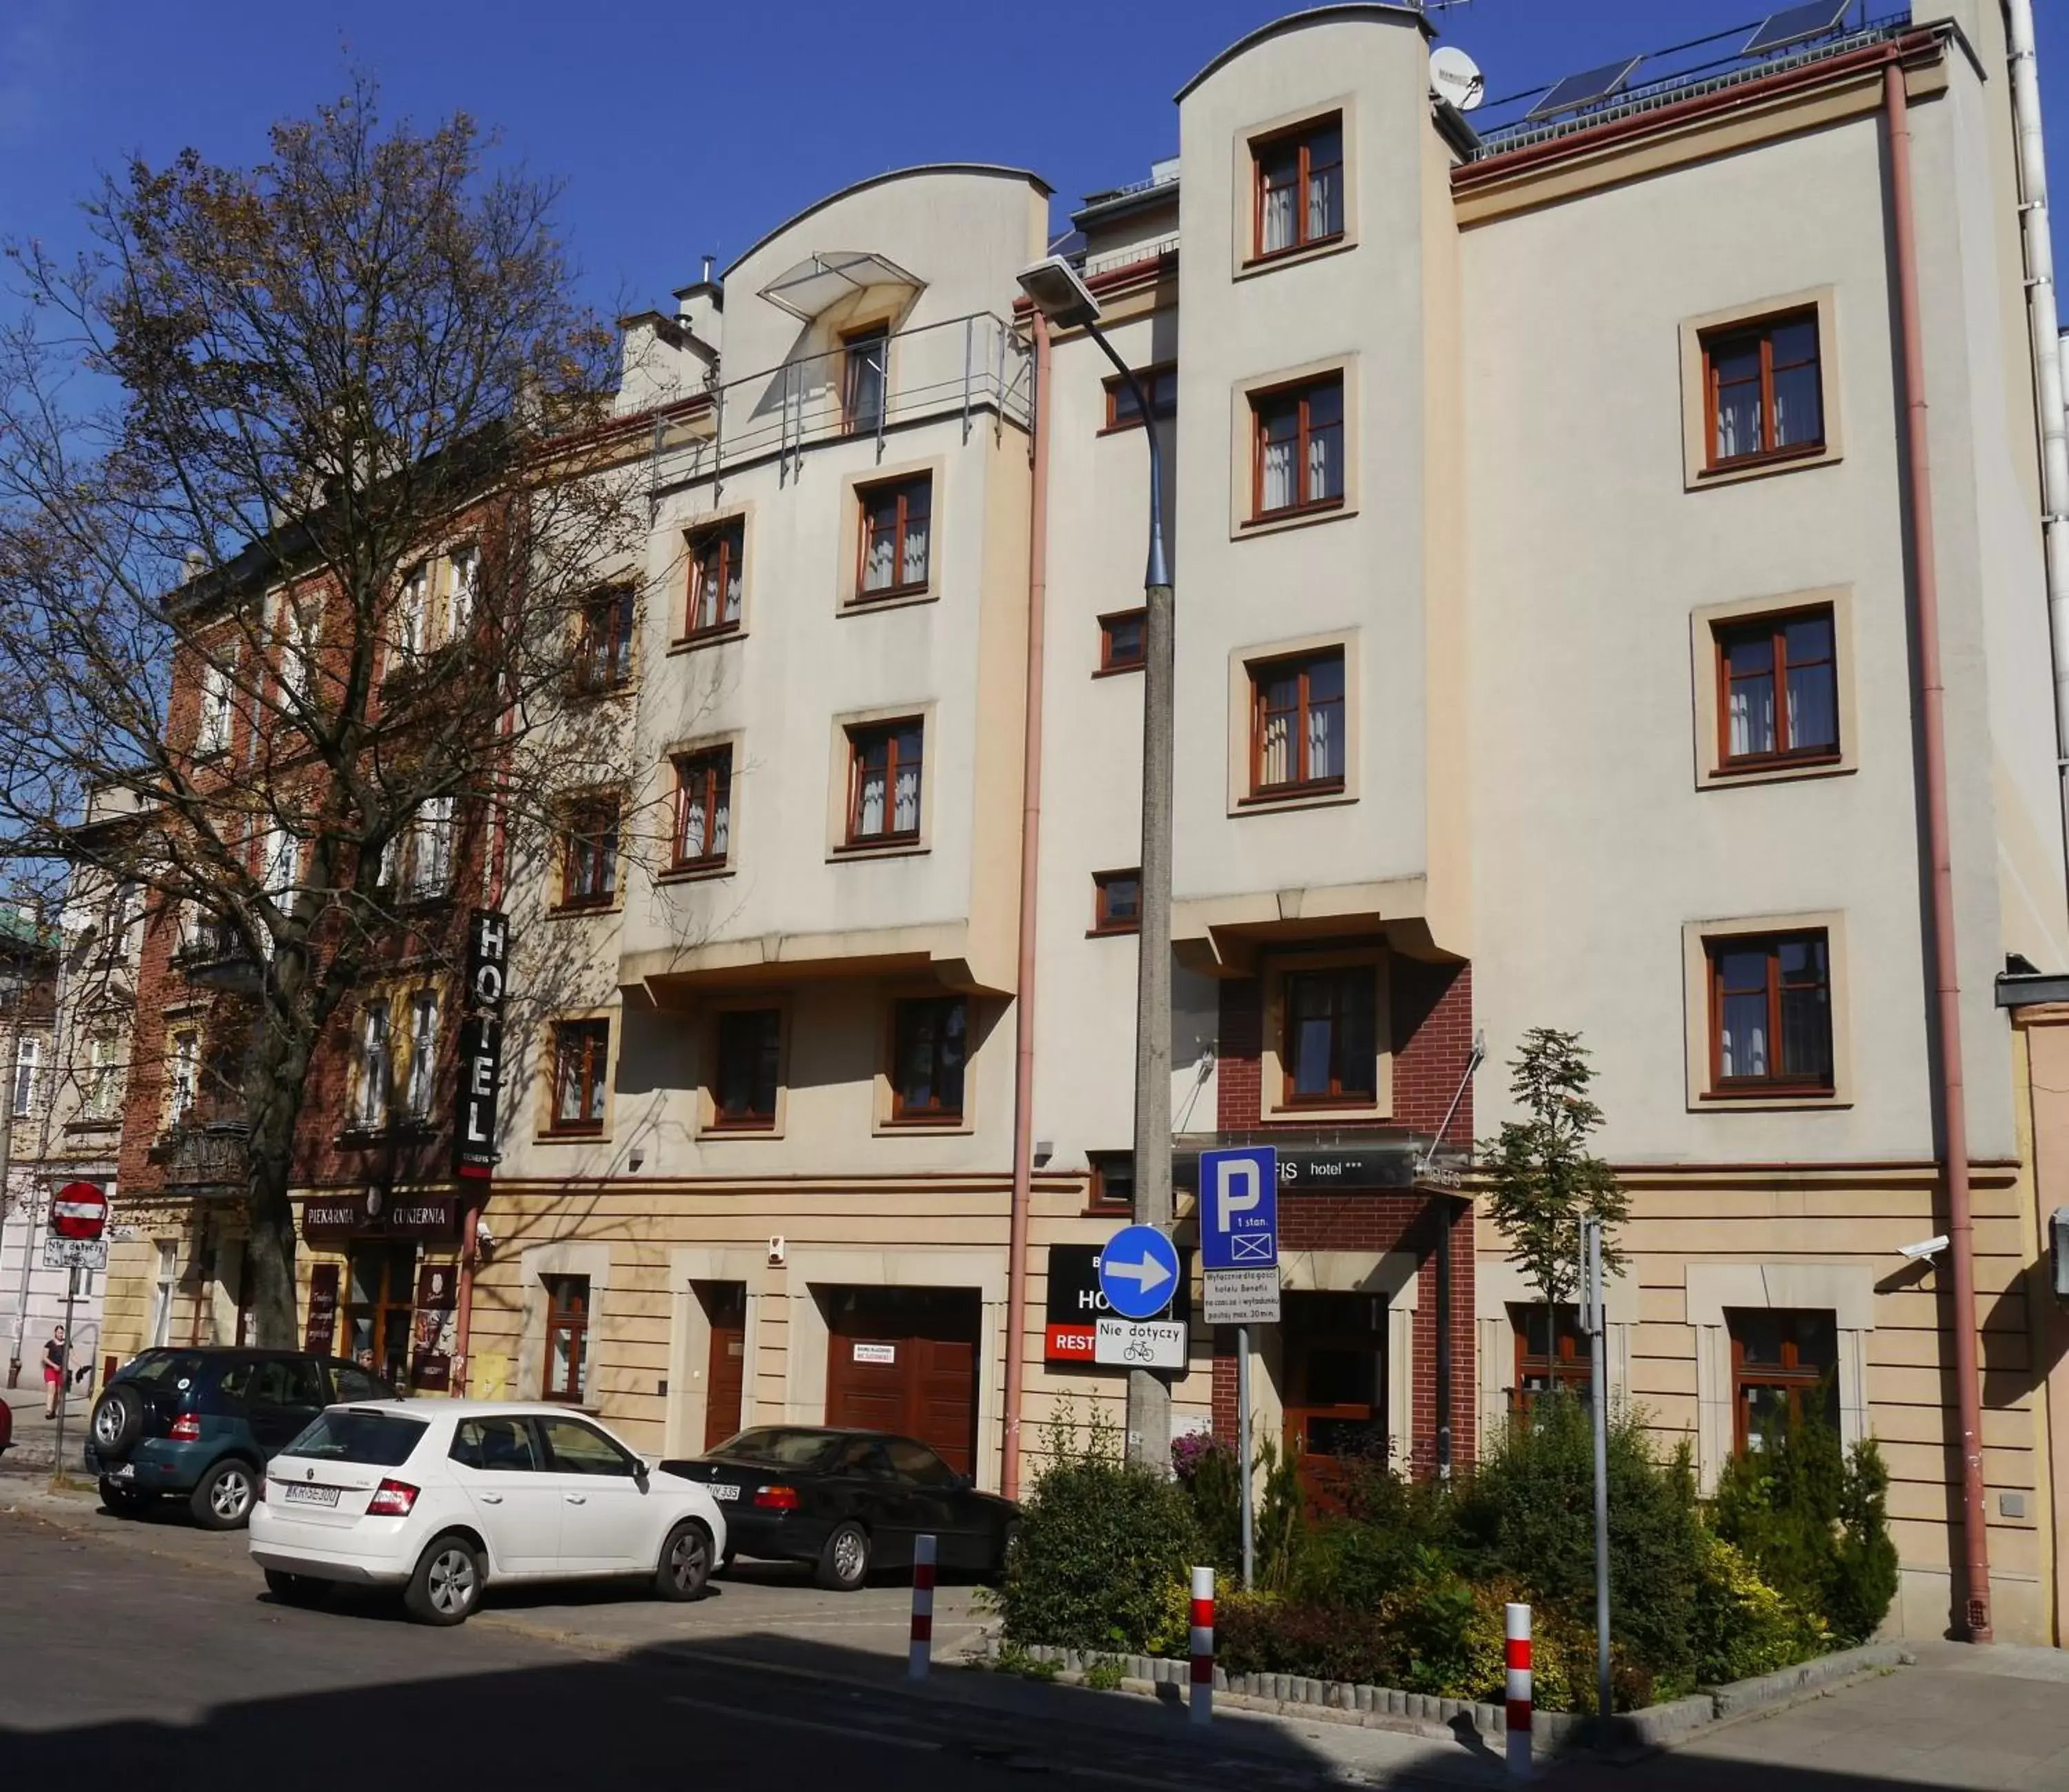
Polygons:
M974 1473L977 1289L836 1287L819 1300L830 1333L826 1422L904 1432Z

